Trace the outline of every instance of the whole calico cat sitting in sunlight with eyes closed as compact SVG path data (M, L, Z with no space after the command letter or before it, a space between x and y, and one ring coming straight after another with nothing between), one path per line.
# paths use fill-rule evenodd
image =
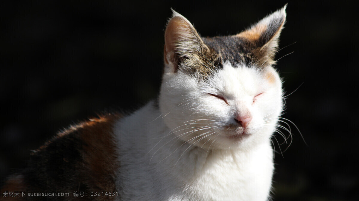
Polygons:
M211 38L173 11L158 98L60 132L8 178L2 199L271 199L270 138L284 107L273 56L285 8Z

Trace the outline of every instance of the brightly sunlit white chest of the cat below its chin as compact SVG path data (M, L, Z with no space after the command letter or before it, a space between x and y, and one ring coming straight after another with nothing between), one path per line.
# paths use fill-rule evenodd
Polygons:
M271 186L271 161L239 161L209 161L192 178L187 177L181 193L197 200L266 200Z

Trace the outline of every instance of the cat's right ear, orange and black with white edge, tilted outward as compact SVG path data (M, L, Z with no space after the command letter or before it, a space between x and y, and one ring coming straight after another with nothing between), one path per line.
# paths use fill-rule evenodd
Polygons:
M261 50L262 56L271 57L278 48L279 35L286 18L286 7L287 5L236 36L251 41L255 48Z

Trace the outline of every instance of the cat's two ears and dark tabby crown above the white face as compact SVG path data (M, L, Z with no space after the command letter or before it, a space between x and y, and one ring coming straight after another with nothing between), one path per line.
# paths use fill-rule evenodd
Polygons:
M286 5L237 35L201 38L194 26L173 11L165 30L165 72L178 70L199 80L211 77L224 62L265 68L273 56L285 22Z

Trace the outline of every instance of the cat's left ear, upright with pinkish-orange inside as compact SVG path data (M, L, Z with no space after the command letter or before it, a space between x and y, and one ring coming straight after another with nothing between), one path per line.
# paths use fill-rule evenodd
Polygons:
M196 52L200 52L206 45L194 26L181 14L173 11L164 33L164 62L177 72L183 59L190 59Z

